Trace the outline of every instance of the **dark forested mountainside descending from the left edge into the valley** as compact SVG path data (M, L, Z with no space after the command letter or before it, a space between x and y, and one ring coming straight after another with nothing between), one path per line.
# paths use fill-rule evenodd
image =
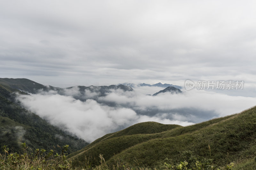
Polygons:
M8 145L12 152L19 152L20 143L26 141L32 149L56 149L60 152L57 145L69 144L69 152L75 152L88 144L20 107L12 92L26 94L8 85L0 85L0 146Z

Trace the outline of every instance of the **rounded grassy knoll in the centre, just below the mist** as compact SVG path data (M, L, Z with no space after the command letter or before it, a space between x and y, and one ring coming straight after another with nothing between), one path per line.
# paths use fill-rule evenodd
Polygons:
M181 127L179 125L165 125L157 122L142 122L130 126L124 130L107 134L91 144L87 145L80 151L70 154L71 160L83 161L84 157L96 158L92 159L92 163L96 163L100 153L103 153L105 160L108 160L114 154L135 144L148 141L160 137L158 132Z

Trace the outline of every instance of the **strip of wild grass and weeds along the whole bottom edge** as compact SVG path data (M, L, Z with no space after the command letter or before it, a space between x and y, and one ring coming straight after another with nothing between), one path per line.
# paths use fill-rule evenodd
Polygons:
M60 146L59 146L60 147ZM98 166L92 167L90 159L84 158L84 166L72 166L72 162L67 160L68 145L60 147L62 152L60 154L50 150L46 153L44 149L36 149L34 152L22 143L23 153L9 153L7 146L3 146L3 152L0 154L0 170L232 170L234 163L229 163L225 167L216 167L212 164L212 159L205 159L205 161L198 161L195 157L192 162L191 159L179 162L178 164L171 164L170 159L166 158L159 161L154 168L142 165L136 158L133 164L120 159L116 159L115 163L107 165L103 155L100 154L100 162ZM209 147L210 149L210 147ZM191 152L187 152L190 153ZM187 154L186 153L186 154ZM236 169L248 169L248 167L255 167L255 161L249 160L239 163ZM192 168L188 168L188 167Z

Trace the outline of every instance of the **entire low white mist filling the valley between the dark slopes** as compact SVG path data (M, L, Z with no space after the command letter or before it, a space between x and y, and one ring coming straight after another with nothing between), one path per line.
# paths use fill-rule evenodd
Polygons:
M58 91L19 95L28 110L88 142L139 122L154 121L182 126L238 113L256 98L192 90L180 94L160 93L159 87L136 87L134 91L111 90L99 95L97 87L81 93L77 86Z

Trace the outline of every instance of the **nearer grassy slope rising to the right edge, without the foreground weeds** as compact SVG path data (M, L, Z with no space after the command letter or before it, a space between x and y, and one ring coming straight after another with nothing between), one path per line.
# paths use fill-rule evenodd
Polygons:
M240 114L224 117L218 123L190 133L174 137L165 135L165 138L156 138L135 145L112 157L109 162L120 158L132 163L131 161L136 157L139 162L147 166L154 166L157 161L165 158L177 163L186 159L181 157L182 151L193 151L199 157L210 158L209 144L214 163L224 166L226 162L235 162L255 156L255 127L256 107L253 107ZM173 129L173 131L176 130L178 129ZM172 130L168 134L172 134Z

